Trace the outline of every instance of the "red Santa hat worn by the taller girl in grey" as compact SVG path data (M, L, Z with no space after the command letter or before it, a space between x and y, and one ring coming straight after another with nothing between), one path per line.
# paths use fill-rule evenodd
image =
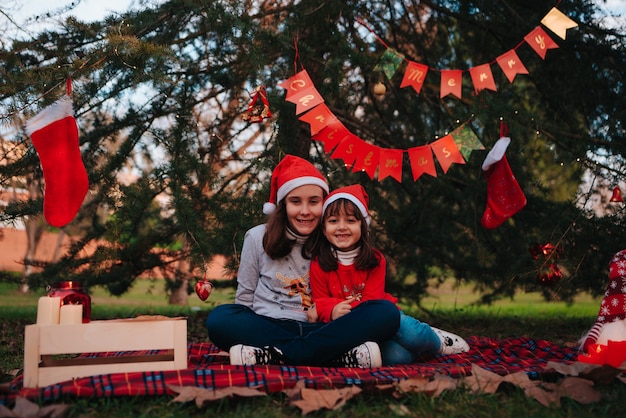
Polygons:
M308 185L320 186L328 193L326 178L313 164L295 155L285 155L272 172L270 198L263 204L263 213L271 215L276 210L276 205L293 189Z

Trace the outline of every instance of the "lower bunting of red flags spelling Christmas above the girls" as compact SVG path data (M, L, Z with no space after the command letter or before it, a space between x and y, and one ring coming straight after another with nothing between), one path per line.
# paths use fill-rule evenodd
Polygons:
M416 181L422 174L437 177L433 154L447 173L452 164L465 164L473 150L485 149L467 122L428 145L408 150L381 148L359 138L341 123L324 103L306 70L279 86L287 90L285 99L296 105L296 115L302 115L299 119L310 125L311 139L321 142L330 158L343 160L347 168L365 172L371 179L378 170L378 181L392 177L401 182L405 153Z

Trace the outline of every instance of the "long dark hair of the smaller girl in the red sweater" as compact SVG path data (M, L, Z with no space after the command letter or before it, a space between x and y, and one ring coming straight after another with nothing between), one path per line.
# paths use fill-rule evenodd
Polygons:
M359 255L354 260L354 265L358 270L369 270L376 267L380 263L379 256L374 250L372 239L369 233L369 227L365 217L354 203L348 199L337 199L332 202L322 215L321 227L315 234L315 238L311 237L307 244L310 246L308 250L313 257L317 257L320 267L324 271L337 270L337 252L336 249L328 242L324 236L324 223L329 216L350 215L361 221L361 239L358 245L361 247ZM306 247L306 246L305 246Z

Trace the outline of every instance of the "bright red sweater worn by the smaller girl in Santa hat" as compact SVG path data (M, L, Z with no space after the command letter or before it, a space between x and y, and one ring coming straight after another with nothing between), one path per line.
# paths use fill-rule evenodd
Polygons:
M339 263L337 270L327 272L322 270L317 259L311 260L311 294L320 321L330 322L335 305L350 296L353 308L366 300L398 302L398 298L385 292L387 261L380 251L376 250L376 255L380 263L371 270L357 270L354 264Z

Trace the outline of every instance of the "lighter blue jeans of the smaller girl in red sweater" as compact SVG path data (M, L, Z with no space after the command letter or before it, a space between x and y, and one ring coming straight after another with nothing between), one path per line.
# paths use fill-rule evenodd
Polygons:
M425 322L400 313L400 328L396 335L380 345L383 365L413 363L421 354L436 353L441 341Z

